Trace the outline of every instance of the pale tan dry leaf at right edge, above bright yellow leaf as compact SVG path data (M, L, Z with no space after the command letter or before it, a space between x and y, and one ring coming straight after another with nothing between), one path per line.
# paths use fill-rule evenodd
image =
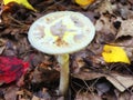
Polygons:
M121 28L117 32L116 38L123 36L131 36L133 37L133 19L122 21Z

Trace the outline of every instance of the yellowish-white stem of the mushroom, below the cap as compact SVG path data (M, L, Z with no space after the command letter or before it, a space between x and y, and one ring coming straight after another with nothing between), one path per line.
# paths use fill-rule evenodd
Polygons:
M59 92L64 96L69 87L69 54L59 54L58 62L61 66Z

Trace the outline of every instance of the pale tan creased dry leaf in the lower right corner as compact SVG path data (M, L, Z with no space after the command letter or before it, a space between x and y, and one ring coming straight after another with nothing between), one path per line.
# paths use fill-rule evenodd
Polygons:
M120 91L124 91L127 88L133 86L133 77L119 74L119 73L111 73L111 76L105 76L105 78Z

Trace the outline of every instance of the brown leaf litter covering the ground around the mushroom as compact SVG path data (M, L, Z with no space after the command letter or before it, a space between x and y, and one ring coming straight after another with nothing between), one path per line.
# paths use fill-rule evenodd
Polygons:
M132 0L95 0L85 9L74 0L29 0L29 3L38 12L14 2L3 6L0 1L0 57L29 63L25 74L0 86L1 100L133 99ZM33 49L27 33L38 18L64 10L80 11L89 17L96 34L84 50L71 54L70 87L66 97L61 97L58 96L60 67L55 57ZM122 47L131 63L106 62L102 57L105 44ZM13 67L12 62L9 64Z

